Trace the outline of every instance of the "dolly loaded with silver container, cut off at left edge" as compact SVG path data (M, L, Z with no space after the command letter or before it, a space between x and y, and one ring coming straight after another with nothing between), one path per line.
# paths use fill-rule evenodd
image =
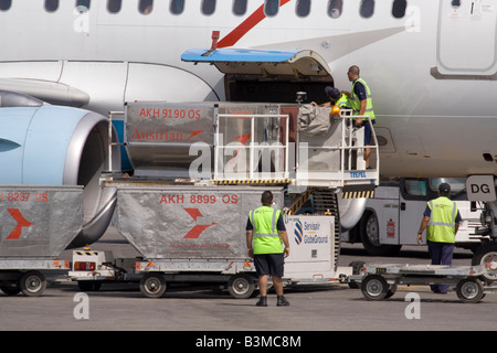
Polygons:
M61 253L81 232L80 186L0 185L0 289L41 296L71 269ZM4 236L3 236L4 235Z

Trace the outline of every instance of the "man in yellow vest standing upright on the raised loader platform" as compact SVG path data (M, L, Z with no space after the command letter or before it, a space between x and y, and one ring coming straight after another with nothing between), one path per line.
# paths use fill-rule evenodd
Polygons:
M342 93L346 94L349 97L350 104L353 109L353 115L360 115L360 116L369 116L371 119L371 124L376 124L376 116L373 111L372 106L372 99L371 99L371 90L369 89L368 84L359 77L360 69L359 66L352 65L349 67L349 71L347 72L347 76L349 77L349 81L352 83L352 92L346 92ZM371 145L371 131L372 127L368 121L362 121L362 118L355 119L355 125L357 127L364 127L364 146ZM366 161L366 168L370 169L369 165L369 159L371 156L371 149L366 148L364 149L364 161Z

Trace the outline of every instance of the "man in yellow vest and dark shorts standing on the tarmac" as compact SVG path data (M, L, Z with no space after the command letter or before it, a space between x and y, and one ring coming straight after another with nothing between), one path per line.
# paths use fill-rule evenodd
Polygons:
M283 222L282 211L273 205L273 193L265 191L261 197L262 206L250 212L246 223L246 247L254 258L261 298L257 307L267 307L267 280L273 277L277 306L289 306L283 296L284 257L289 255L288 235ZM285 247L283 247L283 245Z

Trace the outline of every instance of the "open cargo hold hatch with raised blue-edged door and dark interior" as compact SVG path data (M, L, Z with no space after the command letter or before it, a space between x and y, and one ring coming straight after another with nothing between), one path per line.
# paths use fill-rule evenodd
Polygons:
M328 64L308 50L192 49L181 60L210 63L224 73L226 100L231 101L295 103L297 92L306 92L310 100L326 101L324 88L334 85Z

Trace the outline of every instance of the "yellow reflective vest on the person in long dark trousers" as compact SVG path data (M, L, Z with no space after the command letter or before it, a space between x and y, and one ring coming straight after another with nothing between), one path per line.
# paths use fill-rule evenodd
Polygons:
M441 196L427 203L432 215L426 229L426 239L437 243L455 243L457 204Z

